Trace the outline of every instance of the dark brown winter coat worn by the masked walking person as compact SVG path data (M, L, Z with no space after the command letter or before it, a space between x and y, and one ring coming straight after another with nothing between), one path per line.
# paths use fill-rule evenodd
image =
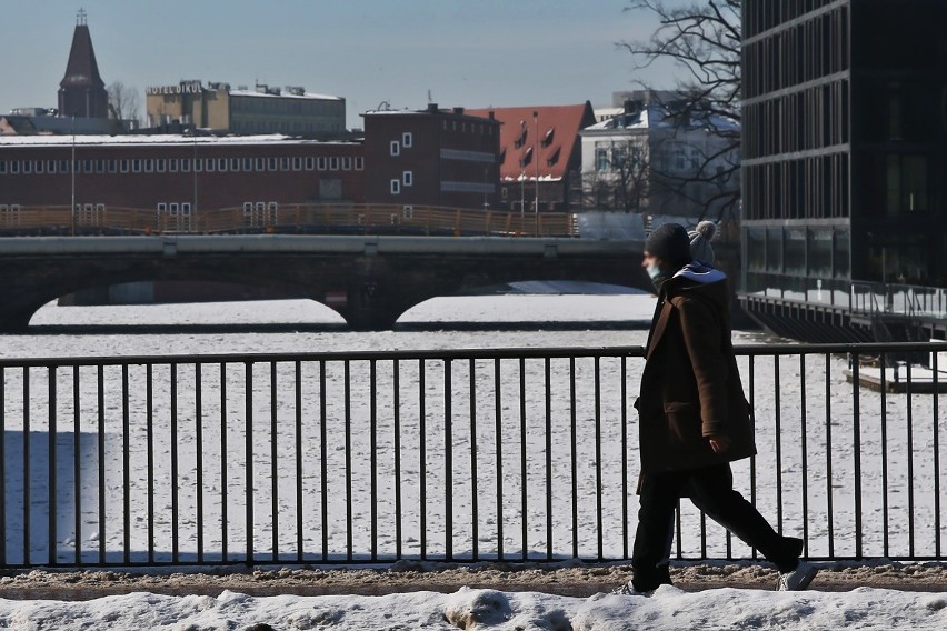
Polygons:
M642 473L695 469L756 453L730 334L724 272L691 263L665 281L635 403ZM714 453L708 437L729 439L729 449Z

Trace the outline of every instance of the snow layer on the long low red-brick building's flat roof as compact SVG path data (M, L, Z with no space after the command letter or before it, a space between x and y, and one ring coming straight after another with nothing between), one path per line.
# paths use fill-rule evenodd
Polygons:
M3 147L70 147L90 144L352 144L341 141L319 141L295 138L281 133L261 136L182 136L182 134L128 134L128 136L0 136Z

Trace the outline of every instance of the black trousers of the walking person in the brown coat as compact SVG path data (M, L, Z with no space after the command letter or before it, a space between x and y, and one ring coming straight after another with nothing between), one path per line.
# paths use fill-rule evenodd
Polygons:
M684 497L759 550L780 571L796 565L798 553L793 550L794 540L779 535L759 511L734 490L729 464L647 473L641 480L638 530L631 554L637 589L651 590L670 582L667 565L674 540L674 513L678 500Z

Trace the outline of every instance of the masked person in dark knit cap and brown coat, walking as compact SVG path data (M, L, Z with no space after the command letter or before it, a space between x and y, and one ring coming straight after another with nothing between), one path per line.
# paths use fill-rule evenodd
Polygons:
M682 497L775 563L780 590L805 589L816 569L799 560L803 540L777 534L732 487L729 463L754 455L756 445L730 340L726 274L691 259L687 230L676 223L650 233L641 266L658 303L635 403L641 475L634 591L670 584L674 513Z

